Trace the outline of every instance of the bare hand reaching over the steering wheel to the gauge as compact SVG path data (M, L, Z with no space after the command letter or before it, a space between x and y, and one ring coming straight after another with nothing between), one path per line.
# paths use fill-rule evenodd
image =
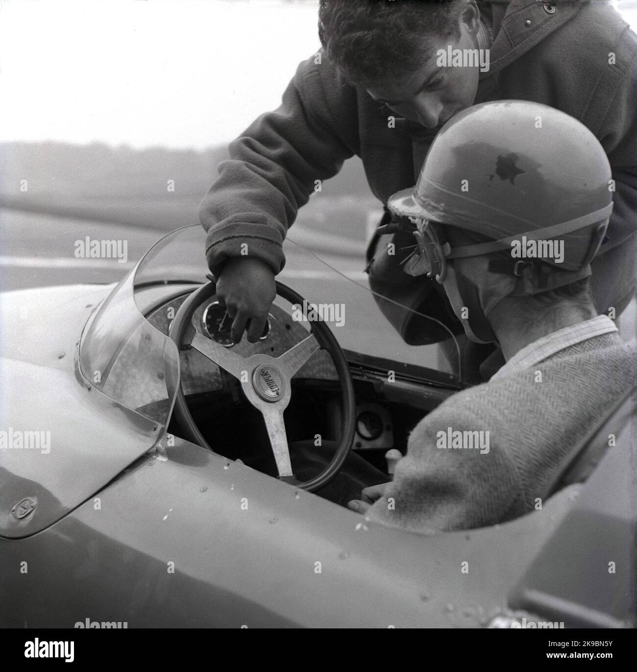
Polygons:
M268 264L254 257L228 259L217 281L217 299L233 319L233 343L241 341L248 320L248 341L259 340L275 296L274 271Z

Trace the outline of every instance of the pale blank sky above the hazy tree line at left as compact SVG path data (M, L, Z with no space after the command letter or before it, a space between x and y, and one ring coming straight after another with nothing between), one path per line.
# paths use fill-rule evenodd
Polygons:
M625 17L637 28L630 4ZM298 63L319 48L317 6L0 0L0 141L226 143L278 106Z

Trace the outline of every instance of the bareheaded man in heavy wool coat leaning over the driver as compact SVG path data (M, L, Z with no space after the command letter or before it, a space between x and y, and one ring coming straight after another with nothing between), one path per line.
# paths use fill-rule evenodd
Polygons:
M299 65L280 108L231 143L231 159L200 207L235 341L248 320L248 338L258 339L285 263L287 229L316 181L352 155L361 157L387 213L389 228L368 250L370 284L389 299L379 300L385 317L414 345L447 339L449 329L462 333L441 286L416 282L402 272L401 255L386 253L387 242L396 250L413 243L410 231L389 224L386 204L414 183L449 118L498 99L562 110L601 142L615 207L591 288L599 312L622 312L637 287L637 37L609 3L322 0L319 19L324 48ZM454 55L472 52L480 57ZM537 129L525 133L542 142ZM505 175L507 161L499 166ZM501 179L498 167L492 173ZM532 211L538 203L528 205ZM481 382L477 366L490 347L463 353L465 380Z

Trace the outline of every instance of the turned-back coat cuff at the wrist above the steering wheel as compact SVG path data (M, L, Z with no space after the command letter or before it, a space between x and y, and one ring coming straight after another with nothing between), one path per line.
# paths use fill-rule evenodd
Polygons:
M206 259L215 278L231 257L261 259L277 275L285 265L283 238L278 230L262 224L232 223L215 228L206 239Z

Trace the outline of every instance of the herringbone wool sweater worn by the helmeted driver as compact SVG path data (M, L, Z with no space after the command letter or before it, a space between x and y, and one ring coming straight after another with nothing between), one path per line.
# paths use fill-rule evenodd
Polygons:
M637 341L609 333L458 392L416 425L394 480L367 515L431 533L533 511L538 498L551 494L578 443L636 384ZM488 432L488 452L439 447L453 431Z

